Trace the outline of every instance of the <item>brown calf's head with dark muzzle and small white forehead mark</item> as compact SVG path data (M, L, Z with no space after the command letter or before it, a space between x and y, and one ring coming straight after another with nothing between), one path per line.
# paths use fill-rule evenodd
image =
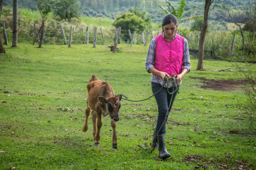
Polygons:
M106 104L107 112L109 113L109 116L112 120L115 122L119 121L119 109L121 107L120 101L122 99L122 96L110 96L109 98L99 96L98 100L101 103Z

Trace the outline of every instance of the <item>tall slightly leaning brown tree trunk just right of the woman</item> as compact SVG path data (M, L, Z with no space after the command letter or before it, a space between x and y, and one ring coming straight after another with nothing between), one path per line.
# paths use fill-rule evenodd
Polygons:
M202 30L200 33L200 38L199 38L199 49L198 49L198 64L196 70L203 70L203 50L204 50L204 39L206 35L206 30L207 30L207 22L208 22L208 12L210 9L210 5L214 0L205 0L205 5L204 5L204 21L203 21L203 26Z

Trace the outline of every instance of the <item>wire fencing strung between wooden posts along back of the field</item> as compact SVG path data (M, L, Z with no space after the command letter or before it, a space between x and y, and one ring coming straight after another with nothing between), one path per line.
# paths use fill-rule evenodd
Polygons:
M58 28L59 27L59 28ZM1 29L1 28L0 28ZM62 25L63 33L60 26L46 26L44 28L43 44L57 44L64 45L70 40L70 25ZM2 29L3 30L3 27ZM6 28L6 37L11 41L12 31L10 28ZM23 29L24 30L24 29ZM36 40L36 30L34 27L26 29L27 31L18 31L18 43L29 42L33 43ZM40 28L38 28L40 30ZM73 27L71 35L72 44L98 44L98 45L114 45L114 41L117 36L117 29L105 29L98 27L95 33L95 27ZM162 33L162 30L134 32L131 30L122 30L118 39L118 43L126 43L132 46L132 44L144 44L149 45L151 39L158 34ZM199 44L199 32L186 32L180 31L180 35L185 37L188 41L191 54L197 55ZM94 38L96 35L97 40ZM234 45L235 51L241 51L242 38L237 35L236 43ZM245 39L247 35L245 34ZM40 33L39 33L40 37ZM218 34L207 33L204 42L205 58L213 59L229 59L231 55L231 43L233 34L228 32L218 32ZM38 42L38 40L36 40ZM194 50L194 51L193 51Z

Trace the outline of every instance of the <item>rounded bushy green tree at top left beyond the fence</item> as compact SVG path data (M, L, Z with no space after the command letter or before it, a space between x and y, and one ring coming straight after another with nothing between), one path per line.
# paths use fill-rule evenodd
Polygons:
M80 6L79 0L57 0L54 3L54 14L60 16L61 19L78 18Z

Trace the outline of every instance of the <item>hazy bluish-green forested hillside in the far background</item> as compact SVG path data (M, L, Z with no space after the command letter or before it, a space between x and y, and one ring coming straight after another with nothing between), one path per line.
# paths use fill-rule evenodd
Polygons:
M140 11L146 11L152 18L152 22L161 22L163 18L162 10L157 4L166 6L165 0L77 0L80 5L80 15L89 17L106 17L115 19L117 15L127 12L130 8L139 8ZM171 4L175 7L178 6L179 1L170 0ZM226 10L246 10L255 0L223 0L220 1L219 6L225 5L226 9L217 7L218 5L212 5L209 12L209 24L213 30L226 30L227 22L225 19ZM204 13L204 1L202 0L186 0L185 11L195 9L193 15L203 15ZM4 6L12 6L12 0L6 0ZM37 2L33 0L19 0L19 8L28 8L31 10L37 10ZM214 9L213 9L214 7ZM217 23L216 23L217 21ZM182 23L182 26L188 27L191 22Z

